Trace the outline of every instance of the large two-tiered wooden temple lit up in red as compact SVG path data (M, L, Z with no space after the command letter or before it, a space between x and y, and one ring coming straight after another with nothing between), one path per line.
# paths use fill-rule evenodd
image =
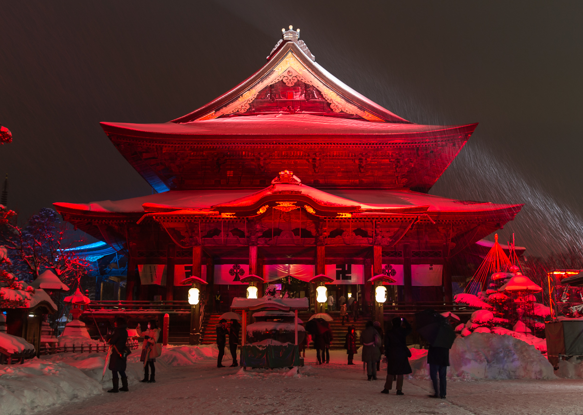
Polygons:
M385 273L391 303L451 301L449 258L522 207L427 194L477 124L393 114L318 65L291 29L258 72L198 110L101 125L157 193L54 205L128 256L127 300L186 300L179 283L194 275L208 307L226 308L254 274L313 304L308 281L326 274L329 293L368 305L368 280Z

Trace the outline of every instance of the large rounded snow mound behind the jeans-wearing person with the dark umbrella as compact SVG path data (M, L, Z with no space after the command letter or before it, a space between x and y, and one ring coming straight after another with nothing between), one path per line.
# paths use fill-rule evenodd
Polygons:
M427 356L413 357L410 359L412 376L429 378ZM512 336L491 333L472 333L455 339L454 346L449 351L449 364L449 378L556 378L553 365L535 347Z

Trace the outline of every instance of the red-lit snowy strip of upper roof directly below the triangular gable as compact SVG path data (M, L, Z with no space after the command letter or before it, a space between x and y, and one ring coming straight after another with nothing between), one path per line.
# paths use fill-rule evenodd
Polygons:
M127 135L152 136L153 138L206 135L364 135L367 140L375 135L403 135L441 133L447 130L474 129L468 125L424 125L392 122L370 122L353 118L326 117L311 114L261 114L244 117L227 117L192 121L187 124L164 122L161 124L134 124L128 122L101 122L104 131ZM447 133L453 133L449 131ZM342 139L335 136L335 140Z

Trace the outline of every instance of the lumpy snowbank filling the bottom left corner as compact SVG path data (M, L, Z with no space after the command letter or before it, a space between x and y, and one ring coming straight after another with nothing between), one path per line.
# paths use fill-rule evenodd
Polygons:
M87 399L102 391L95 379L62 362L34 358L22 365L0 366L2 415L36 412L59 403Z

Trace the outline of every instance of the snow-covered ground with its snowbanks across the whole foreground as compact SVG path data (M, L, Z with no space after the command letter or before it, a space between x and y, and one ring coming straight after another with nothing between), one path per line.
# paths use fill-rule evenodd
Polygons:
M424 364L426 352L412 351L414 372L405 381L405 396L379 393L385 364L381 364L379 380L367 382L360 355L354 356L356 365L348 366L344 350L332 350L330 364L315 364L315 352L308 350L305 367L299 370L243 371L216 368L216 346L169 347L157 359L156 384L138 382L142 370L139 353L134 351L128 358L130 391L117 394L105 393L111 387L110 371L101 381L104 353L66 353L24 365L0 366L0 412L583 413L583 381L579 379L583 364L561 362L560 370L553 374L539 351L514 337L473 333L456 340L447 400L427 397L431 387ZM230 363L228 352L223 362Z

